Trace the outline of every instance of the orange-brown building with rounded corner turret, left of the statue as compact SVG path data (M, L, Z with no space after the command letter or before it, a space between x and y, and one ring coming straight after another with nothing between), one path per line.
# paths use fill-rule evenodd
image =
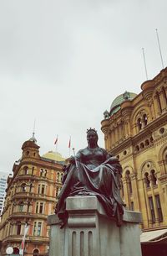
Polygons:
M53 214L61 189L64 159L52 151L41 157L34 136L22 149L22 158L13 165L13 177L8 177L0 223L1 255L6 255L9 246L13 247L13 254L19 254L25 225L28 233L24 255L48 255L47 217Z

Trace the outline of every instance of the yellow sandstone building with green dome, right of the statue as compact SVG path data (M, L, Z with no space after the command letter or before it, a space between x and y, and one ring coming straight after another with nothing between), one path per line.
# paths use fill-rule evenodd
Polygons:
M105 148L123 167L127 207L142 212L143 231L167 232L167 68L141 89L117 97L101 128Z

